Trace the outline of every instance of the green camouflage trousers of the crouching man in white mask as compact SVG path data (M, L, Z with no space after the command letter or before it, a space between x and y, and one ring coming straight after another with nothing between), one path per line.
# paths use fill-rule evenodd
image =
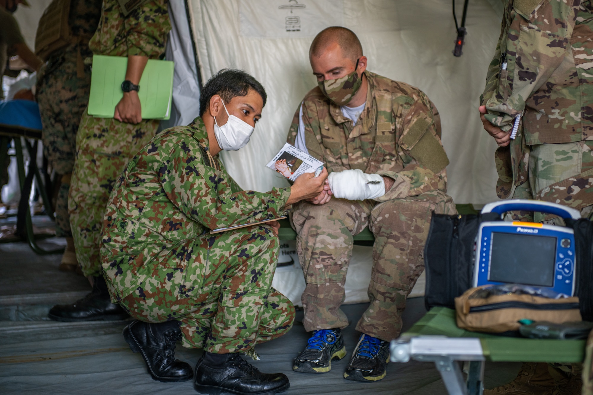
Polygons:
M138 272L151 273L120 304L133 318L181 322L182 344L214 353L244 352L292 327L292 303L271 288L279 240L266 226L203 235L162 249ZM125 287L126 264L102 247L110 287ZM144 257L141 253L139 256ZM122 273L118 275L119 269ZM129 266L127 266L129 267Z

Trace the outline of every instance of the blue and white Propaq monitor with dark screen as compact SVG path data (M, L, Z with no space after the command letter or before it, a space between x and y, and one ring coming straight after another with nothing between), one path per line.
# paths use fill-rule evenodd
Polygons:
M519 283L573 296L575 235L537 222L482 222L473 285Z

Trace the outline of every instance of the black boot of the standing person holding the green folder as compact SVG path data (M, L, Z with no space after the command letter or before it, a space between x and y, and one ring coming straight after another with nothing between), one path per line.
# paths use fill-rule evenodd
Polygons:
M111 303L107 283L103 276L93 277L93 291L74 304L56 304L47 314L56 321L115 321L129 315L119 304Z

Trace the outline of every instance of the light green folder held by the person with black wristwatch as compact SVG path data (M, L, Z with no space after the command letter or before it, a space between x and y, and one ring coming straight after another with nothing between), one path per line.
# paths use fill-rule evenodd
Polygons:
M148 59L138 97L143 119L169 119L173 97L173 65L169 60ZM93 56L91 93L88 114L113 118L115 106L123 97L122 82L126 79L127 57Z

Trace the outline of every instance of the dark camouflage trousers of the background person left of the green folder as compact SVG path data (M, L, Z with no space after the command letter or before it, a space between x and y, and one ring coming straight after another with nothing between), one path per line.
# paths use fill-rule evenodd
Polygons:
M50 74L40 71L41 79L37 85L43 152L53 170L67 176L74 168L76 132L82 113L87 108L91 87L90 69L85 68L84 78L76 77L76 56L68 55ZM72 237L68 216L69 187L70 184L63 181L56 199L56 235L59 237Z

